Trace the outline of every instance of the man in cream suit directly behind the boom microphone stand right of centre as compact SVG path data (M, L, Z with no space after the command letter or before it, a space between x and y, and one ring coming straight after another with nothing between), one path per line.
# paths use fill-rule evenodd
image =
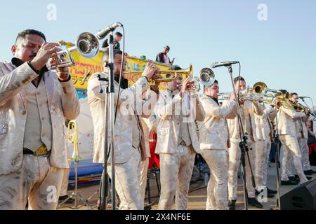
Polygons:
M246 81L244 78L237 77L234 79L235 90L246 90ZM223 102L223 106L227 101ZM249 100L239 100L240 104L240 112L242 116L242 124L244 127L244 134L247 139L247 145L252 150L249 150L249 160L245 154L245 161L246 161L246 187L248 193L248 202L254 207L262 208L263 205L256 200L255 197L255 189L252 186L251 181L251 169L254 173L255 166L255 141L256 141L256 125L255 125L255 118L254 114L258 114L261 116L263 114L262 106L257 101L249 101ZM229 165L229 177L228 177L228 195L229 195L229 207L231 210L235 210L235 203L237 201L237 172L240 165L240 157L241 157L241 150L239 147L240 142L240 132L239 132L239 125L238 125L238 117L236 116L234 119L228 119L228 127L230 130L230 150L229 150L229 158L230 158L230 165Z

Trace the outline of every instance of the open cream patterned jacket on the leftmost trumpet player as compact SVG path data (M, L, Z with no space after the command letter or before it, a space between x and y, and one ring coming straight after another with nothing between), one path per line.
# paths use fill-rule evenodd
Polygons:
M0 63L0 174L15 172L22 166L27 118L24 88L37 76L27 63L18 68ZM65 118L72 120L79 115L78 95L72 80L60 83L51 71L44 73L44 80L53 129L51 166L69 168Z

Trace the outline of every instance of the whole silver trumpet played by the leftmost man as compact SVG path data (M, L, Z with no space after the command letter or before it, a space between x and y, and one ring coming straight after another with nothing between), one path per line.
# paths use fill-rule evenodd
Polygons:
M61 45L72 45L72 47L54 53L51 56L51 60L46 64L49 70L57 69L58 67L74 66L74 59L70 52L78 51L80 55L87 58L95 57L99 52L98 38L88 32L79 34L76 45L65 43L65 41L62 40L60 40L59 43Z

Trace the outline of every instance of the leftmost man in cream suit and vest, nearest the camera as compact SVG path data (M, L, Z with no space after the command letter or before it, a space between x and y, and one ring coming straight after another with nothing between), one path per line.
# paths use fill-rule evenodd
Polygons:
M67 68L48 71L58 52L34 29L20 32L11 63L0 63L0 209L56 209L67 161L65 118L79 115Z

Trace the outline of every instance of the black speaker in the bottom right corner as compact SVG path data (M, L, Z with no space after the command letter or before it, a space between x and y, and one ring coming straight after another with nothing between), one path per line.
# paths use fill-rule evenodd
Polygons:
M316 180L303 183L282 195L281 210L316 210Z

